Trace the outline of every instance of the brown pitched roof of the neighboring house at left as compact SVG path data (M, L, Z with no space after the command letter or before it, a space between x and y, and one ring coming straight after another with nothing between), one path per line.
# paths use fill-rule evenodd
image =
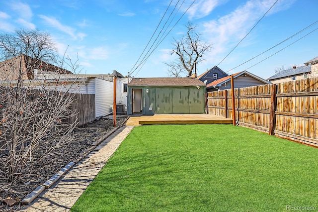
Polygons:
M38 71L38 74L73 74L61 67L22 54L0 62L0 79L17 80L21 77L23 80L31 80L34 78L35 69Z

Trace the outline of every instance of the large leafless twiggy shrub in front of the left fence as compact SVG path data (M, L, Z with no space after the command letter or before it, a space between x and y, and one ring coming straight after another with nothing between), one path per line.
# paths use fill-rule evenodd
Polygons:
M67 62L73 71L78 68L77 62L62 61L61 67ZM78 81L75 74L61 74L61 67L29 79L25 76L39 68L34 61L23 65L21 55L0 63L0 178L12 182L31 174L35 164L55 149L63 154L72 141L78 122L67 120L76 115L71 105Z

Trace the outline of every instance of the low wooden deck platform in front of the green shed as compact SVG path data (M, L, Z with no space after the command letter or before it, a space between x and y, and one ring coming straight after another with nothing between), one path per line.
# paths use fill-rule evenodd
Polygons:
M126 126L143 124L231 124L232 118L224 118L210 114L156 114L130 116Z

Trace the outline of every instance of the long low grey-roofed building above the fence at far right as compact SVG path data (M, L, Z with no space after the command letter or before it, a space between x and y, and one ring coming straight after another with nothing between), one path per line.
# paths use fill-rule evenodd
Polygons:
M282 82L287 82L287 81L295 81L299 79L304 79L310 77L312 72L311 65L309 66L300 66L296 67L294 66L293 68L283 70L267 80L271 83L282 83Z

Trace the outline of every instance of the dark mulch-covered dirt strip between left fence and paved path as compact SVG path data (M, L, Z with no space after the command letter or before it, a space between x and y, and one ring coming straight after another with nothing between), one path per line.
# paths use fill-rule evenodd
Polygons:
M125 116L117 116L116 123L120 126ZM34 168L32 174L28 174L19 180L7 183L0 179L0 211L18 211L20 205L7 207L3 202L4 199L10 197L17 202L31 193L35 188L45 183L55 173L60 171L69 162L78 157L86 149L88 149L96 140L112 130L112 116L106 116L98 121L93 121L74 130L74 140L63 148L56 149L57 154L54 157L47 157L39 162ZM57 156L58 155L58 156Z

